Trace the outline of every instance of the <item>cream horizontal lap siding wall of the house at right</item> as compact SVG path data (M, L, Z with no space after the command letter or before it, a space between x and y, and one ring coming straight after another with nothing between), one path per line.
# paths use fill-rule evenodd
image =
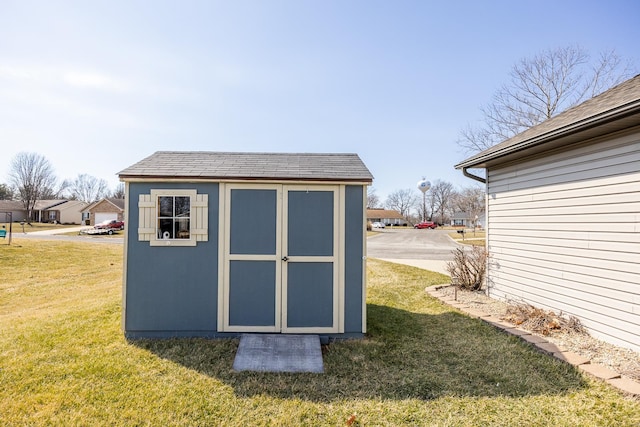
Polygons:
M640 132L488 176L491 295L640 351Z

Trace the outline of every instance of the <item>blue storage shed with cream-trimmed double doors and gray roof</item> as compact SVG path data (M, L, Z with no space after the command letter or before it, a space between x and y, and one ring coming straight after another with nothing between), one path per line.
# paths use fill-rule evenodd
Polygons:
M164 151L119 177L127 337L366 331L358 155Z

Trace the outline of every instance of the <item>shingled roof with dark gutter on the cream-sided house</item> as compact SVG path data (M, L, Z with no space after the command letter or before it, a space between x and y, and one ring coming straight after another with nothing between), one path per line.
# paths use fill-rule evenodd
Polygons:
M486 167L486 162L513 154L548 141L559 139L572 132L582 131L635 115L632 120L620 121L622 127L640 122L640 74L597 95L582 104L533 126L513 138L484 150L455 167ZM601 126L603 132L613 132L614 127ZM592 136L595 136L592 135Z

